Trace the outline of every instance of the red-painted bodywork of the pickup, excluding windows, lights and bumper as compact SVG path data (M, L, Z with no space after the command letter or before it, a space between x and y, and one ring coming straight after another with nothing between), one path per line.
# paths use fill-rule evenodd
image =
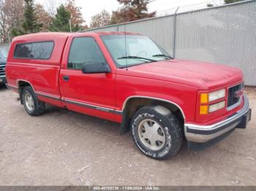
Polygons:
M24 80L34 87L36 93L57 98L37 95L42 101L116 122L121 122L120 113L124 109L124 103L132 96L170 101L182 109L186 122L203 125L223 120L241 109L243 101L241 106L231 111L221 109L212 114L199 114L200 93L222 88L227 90L227 87L241 83L243 81L241 70L218 64L181 60L147 63L129 67L128 70L118 69L99 37L113 34L124 33L46 33L16 37L7 59L7 82L12 87L18 87L18 81ZM67 69L69 47L72 39L78 36L91 36L96 40L110 66L111 73L82 74L81 71ZM12 57L16 44L42 41L54 42L53 53L49 60ZM66 75L69 76L69 82L63 79ZM64 102L65 99L87 106L96 106L98 109L70 104ZM119 114L104 111L105 108L117 111Z

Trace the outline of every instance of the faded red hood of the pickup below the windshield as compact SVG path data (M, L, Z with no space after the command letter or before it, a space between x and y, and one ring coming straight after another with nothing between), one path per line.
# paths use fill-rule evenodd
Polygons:
M200 90L230 85L243 80L243 73L240 69L221 64L182 60L159 61L132 66L129 67L128 74L192 85L200 88Z

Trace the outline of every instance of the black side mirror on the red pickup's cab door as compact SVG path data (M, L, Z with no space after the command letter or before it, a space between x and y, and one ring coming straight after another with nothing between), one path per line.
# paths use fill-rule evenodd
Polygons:
M83 74L110 73L110 67L107 63L86 63L82 68Z

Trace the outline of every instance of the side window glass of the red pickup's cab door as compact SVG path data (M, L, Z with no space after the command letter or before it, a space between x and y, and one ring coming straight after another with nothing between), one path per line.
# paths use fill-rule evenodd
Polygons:
M92 37L74 38L69 50L68 69L81 70L87 63L106 63L97 42Z

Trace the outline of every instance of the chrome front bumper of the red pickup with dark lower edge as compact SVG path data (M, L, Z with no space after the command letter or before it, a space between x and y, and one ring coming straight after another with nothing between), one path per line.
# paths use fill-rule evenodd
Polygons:
M211 144L215 144L225 138L235 128L246 128L246 123L249 120L251 120L251 109L249 108L249 100L244 94L243 108L227 117L227 119L212 125L185 124L184 132L189 148L204 149L211 146Z

